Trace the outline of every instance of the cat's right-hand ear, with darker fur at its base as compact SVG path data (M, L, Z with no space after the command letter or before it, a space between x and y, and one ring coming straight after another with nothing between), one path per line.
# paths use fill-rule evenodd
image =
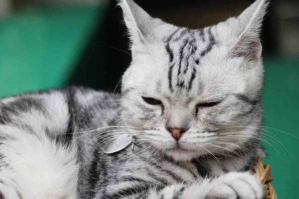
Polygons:
M246 57L249 60L258 60L262 54L260 32L263 18L269 5L268 0L256 0L241 13L234 26L240 31L237 41L230 52L230 56Z

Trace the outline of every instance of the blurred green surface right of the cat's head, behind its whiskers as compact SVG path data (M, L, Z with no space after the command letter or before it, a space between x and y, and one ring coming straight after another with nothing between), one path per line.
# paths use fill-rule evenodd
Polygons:
M268 152L265 162L272 165L278 198L299 199L299 139L289 135L299 137L299 59L266 59L265 70L264 125L286 132L265 128L273 133L265 132L265 138L276 149L262 141Z

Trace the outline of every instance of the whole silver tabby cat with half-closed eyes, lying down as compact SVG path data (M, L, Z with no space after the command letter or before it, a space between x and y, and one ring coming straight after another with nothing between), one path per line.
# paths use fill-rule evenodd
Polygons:
M0 100L0 198L261 199L250 168L264 156L268 2L199 30L119 3L133 55L121 96L72 87ZM127 134L134 149L103 153Z

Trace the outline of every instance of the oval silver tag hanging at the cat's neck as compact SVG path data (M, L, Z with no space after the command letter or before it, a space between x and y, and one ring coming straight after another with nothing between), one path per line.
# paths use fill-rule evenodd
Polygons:
M103 152L106 154L112 154L125 149L131 142L133 137L131 135L121 135L119 137L113 138L107 143Z

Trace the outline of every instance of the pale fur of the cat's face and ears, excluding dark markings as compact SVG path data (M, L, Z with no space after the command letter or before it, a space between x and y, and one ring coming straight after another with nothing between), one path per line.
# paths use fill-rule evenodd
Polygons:
M236 115L247 110L249 106L247 105L247 107L232 94L243 94L250 100L260 98L264 72L261 47L259 47L257 58L254 61L231 55L233 50L239 49L236 46L240 45L243 50L250 52L250 46L248 47L247 44L252 41L259 42L258 35L266 12L267 1L257 0L238 18L230 18L226 22L211 27L211 32L215 36L218 46L200 59L200 66L195 66L197 67L197 74L189 93L185 91L171 92L169 90L167 76L171 63L169 63L169 55L165 50L165 40L151 39L150 36L147 36L149 34L163 38L160 35L171 34L175 26L172 26L173 29L164 29L167 23L163 22L160 23L159 27L154 26L149 32L148 29L152 27L152 24L155 24L154 19L150 18L147 13L145 14L145 11L137 7L132 0L128 0L128 2L122 0L121 6L124 10L129 33L138 29L144 32L143 36L147 40L146 43L141 43L139 40L135 41L135 43L139 43L140 48L144 48L144 51L133 55L131 66L123 76L122 90L134 88L122 101L122 117L126 125L149 129L147 132L154 135L150 140L155 147L163 150L165 154L174 159L182 161L205 154L223 153L223 149L235 150L248 141L248 136L255 136L254 132L257 129L254 128L243 128L239 137L232 136L230 140L227 138L226 140L218 139L217 137L198 137L198 133L202 134L207 130L215 129L215 125L209 122L212 120L221 123L222 128L260 125L260 116L235 119ZM130 4L134 6L129 6ZM146 18L144 21L146 24L141 27L138 24L141 24L144 18ZM142 31L140 28L145 28L147 31ZM158 34L156 33L157 30L159 30ZM205 28L204 31L208 31L208 29ZM135 35L134 33L131 34L131 39L134 40ZM240 38L243 38L242 35L246 35L245 43L242 43L243 40L240 43ZM170 46L173 54L175 54L173 63L179 62L178 54L182 42L178 40ZM201 39L196 40L196 42L200 50L204 50L209 45ZM178 67L173 67L173 70L176 72ZM189 78L191 73L186 73L185 76ZM175 85L174 79L172 82ZM160 100L163 109L146 103L142 97ZM196 104L219 99L222 102L217 107L201 108L198 113L200 119L194 119ZM156 118L146 121L140 120L144 116L144 111L141 111L140 106L136 104L141 104L149 109L152 114L156 115ZM221 110L221 112L211 116L217 110ZM168 150L176 145L176 141L165 128L167 124L176 128L189 128L178 141L184 149L189 150L188 153ZM152 128L154 130L151 130ZM212 133L210 134L212 135ZM224 144L215 144L215 142L223 142Z

